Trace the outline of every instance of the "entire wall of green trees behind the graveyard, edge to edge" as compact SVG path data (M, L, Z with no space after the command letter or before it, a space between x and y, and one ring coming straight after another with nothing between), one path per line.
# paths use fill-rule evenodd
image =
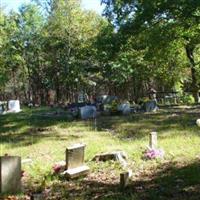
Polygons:
M149 87L200 88L200 2L34 0L0 16L1 99L75 101L78 92L137 101Z

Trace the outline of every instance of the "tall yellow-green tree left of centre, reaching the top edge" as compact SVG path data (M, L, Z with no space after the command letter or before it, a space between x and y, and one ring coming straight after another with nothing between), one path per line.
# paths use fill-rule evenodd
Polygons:
M90 83L88 66L95 62L92 44L103 20L93 12L83 11L77 0L54 1L51 7L46 25L46 48L50 50L48 76L59 100L61 90L74 96Z

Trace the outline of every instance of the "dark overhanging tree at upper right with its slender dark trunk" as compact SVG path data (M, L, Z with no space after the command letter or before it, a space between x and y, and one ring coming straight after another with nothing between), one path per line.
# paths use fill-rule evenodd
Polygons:
M107 5L105 15L129 37L142 31L162 35L164 40L162 49L171 43L181 43L185 49L191 70L192 92L195 101L198 102L199 79L198 62L195 60L194 52L198 47L199 40L199 1L129 1L129 0L103 0ZM159 29L157 27L159 26ZM155 32L155 30L159 32ZM152 34L151 34L152 35ZM153 37L155 38L155 35ZM161 37L158 37L161 39ZM160 45L159 40L148 40L149 46L156 48ZM160 46L159 46L160 47Z

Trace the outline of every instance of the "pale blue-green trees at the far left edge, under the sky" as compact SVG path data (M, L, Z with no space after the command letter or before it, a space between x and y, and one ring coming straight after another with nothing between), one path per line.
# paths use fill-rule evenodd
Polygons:
M4 92L7 91L10 95L14 93L13 98L23 94L28 101L34 91L34 85L39 85L38 37L42 25L43 17L38 12L38 7L33 4L22 5L19 13L11 12L5 16L2 28L6 39L0 55L2 66L6 69L4 77L7 77Z

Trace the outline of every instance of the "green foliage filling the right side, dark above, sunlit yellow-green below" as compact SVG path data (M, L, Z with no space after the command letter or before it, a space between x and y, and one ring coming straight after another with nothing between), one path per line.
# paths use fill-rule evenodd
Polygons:
M186 71L190 67L190 90L197 101L199 56L195 52L200 44L199 1L102 2L106 4L104 14L118 28L118 32L124 34L125 41L137 36L147 47L144 60L148 61L149 71L153 72L153 78L158 83L173 88L183 76L189 76Z

